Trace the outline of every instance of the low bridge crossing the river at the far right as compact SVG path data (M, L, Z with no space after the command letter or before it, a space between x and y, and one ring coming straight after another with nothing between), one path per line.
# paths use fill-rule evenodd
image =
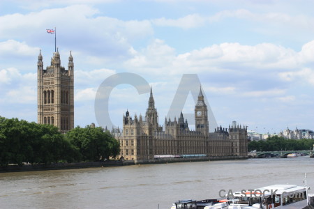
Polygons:
M301 155L313 156L313 150L281 150L281 151L267 151L267 152L254 152L248 153L251 157L287 157L287 155L292 153L300 153Z

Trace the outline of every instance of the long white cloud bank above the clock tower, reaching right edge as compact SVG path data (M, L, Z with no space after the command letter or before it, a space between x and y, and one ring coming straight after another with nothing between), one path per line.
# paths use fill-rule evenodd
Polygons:
M241 45L237 42L224 42L184 54L175 54L175 50L162 40L154 40L142 51L133 52L133 58L124 63L137 72L148 72L155 75L170 73L202 72L246 72L257 70L274 71L296 69L313 61L314 41L308 42L300 52L271 43ZM250 69L250 70L248 70Z

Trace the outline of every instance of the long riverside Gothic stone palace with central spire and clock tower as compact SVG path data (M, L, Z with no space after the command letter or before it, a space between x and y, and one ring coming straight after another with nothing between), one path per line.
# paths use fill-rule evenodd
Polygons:
M195 131L188 128L181 113L178 120L165 118L164 130L158 125L158 112L151 91L147 112L143 119L128 111L123 118L123 132L117 138L120 141L119 157L125 160L153 160L154 155L192 155L204 154L209 157L242 156L248 153L247 128L233 124L227 128L217 127L209 133L207 105L202 91L195 105Z

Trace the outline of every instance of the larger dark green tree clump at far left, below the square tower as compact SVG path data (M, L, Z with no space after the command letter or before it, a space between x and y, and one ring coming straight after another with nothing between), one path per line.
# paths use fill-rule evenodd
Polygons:
M57 127L0 117L0 165L80 160L77 148Z

